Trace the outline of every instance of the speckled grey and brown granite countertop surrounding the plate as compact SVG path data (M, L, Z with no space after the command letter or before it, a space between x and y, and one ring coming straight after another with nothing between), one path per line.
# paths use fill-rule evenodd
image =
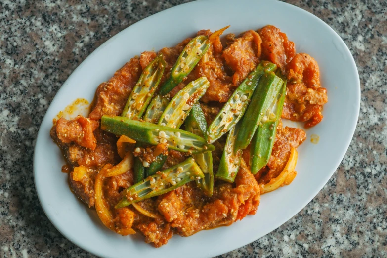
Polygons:
M38 129L52 98L99 45L187 0L0 1L0 257L95 257L44 215L33 180ZM350 147L297 215L224 258L387 257L387 2L287 0L329 24L353 54L360 117Z

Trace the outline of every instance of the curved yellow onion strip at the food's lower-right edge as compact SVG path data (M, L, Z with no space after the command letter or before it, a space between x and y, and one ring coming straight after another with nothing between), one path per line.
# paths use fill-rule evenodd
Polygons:
M288 182L287 180L288 176L294 172L294 169L296 168L296 164L297 164L297 150L295 148L292 148L290 150L289 160L286 163L286 166L283 169L283 171L276 178L271 179L270 182L261 186L261 194L274 191L275 189L283 186L286 182ZM291 179L292 181L296 176L296 174L297 173L294 173L293 178L290 177L289 179Z

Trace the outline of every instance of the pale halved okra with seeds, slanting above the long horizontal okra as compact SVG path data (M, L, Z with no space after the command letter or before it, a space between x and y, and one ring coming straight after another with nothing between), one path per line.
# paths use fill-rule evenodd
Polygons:
M206 93L210 82L205 76L190 82L172 98L160 117L159 125L179 128L192 106Z

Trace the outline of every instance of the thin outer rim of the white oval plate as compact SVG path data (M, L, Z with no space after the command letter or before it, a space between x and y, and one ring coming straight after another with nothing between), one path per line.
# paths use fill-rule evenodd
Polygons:
M72 238L71 235L67 234L64 230L62 230L57 224L54 223L54 221L51 219L51 217L47 214L47 209L45 207L45 205L43 204L43 201L42 201L42 196L39 194L40 190L39 188L37 187L37 176L36 176L36 173L37 171L39 170L36 166L36 159L37 159L37 146L38 146L38 141L39 139L41 139L43 136L43 129L42 129L42 125L43 125L43 121L45 120L46 116L47 116L47 111L49 109L49 107L51 106L51 104L53 103L53 101L55 100L55 97L57 95L59 95L63 90L64 90L64 86L66 86L68 84L69 81L71 81L72 77L76 76L75 72L79 69L81 69L86 61L90 58L92 58L94 55L96 55L98 52L102 51L110 42L116 40L118 37L120 37L120 35L123 35L124 32L126 30L128 30L129 28L133 28L133 27L136 27L136 26L140 26L142 22L144 22L145 20L153 17L155 18L156 16L159 16L161 15L161 13L163 12L167 12L167 11L171 11L172 9L174 8L179 8L183 5L189 5L189 4L197 4L198 2L203 2L203 1L212 1L212 0L197 0L197 1L192 1L192 2L188 2L188 3L183 3L183 4L179 4L179 5L175 5L175 6L172 6L171 8L168 8L168 9L165 9L163 11L160 11L160 12L157 12L155 14L152 14L152 15L149 15L147 17L145 17L144 19L141 19L135 23L133 23L132 25L128 26L127 28L123 29L122 31L118 32L116 35L114 35L113 37L109 38L108 40L106 40L104 43L102 43L100 46L98 46L96 49L94 49L83 61L80 65L78 65L78 67L76 67L71 75L66 79L66 81L63 83L63 85L59 88L59 90L56 92L55 96L53 97L51 103L49 104L44 116L43 116L43 119L42 119L42 123L39 127L39 130L38 130L38 133L37 133L37 138L36 138L36 142L35 142L35 147L34 147L34 155L33 155L33 175L34 175L34 185L35 185L35 189L36 189L36 192L37 192L37 196L38 196L38 199L39 199L39 202L41 204L41 207L43 209L43 212L44 214L47 216L47 218L49 219L49 221L54 225L54 227L64 236L66 237L68 240L70 240L73 244L75 244L76 246L82 248L83 250L85 250L86 252L89 252L93 255L96 255L96 256L100 256L100 254L94 252L93 249L89 249L88 246L86 246L84 244L84 242L77 242L76 240L74 240ZM346 43L344 42L344 40L340 37L340 35L333 29L331 28L327 23L325 23L322 19L320 19L319 17L317 17L316 15L300 8L300 7L297 7L295 5L292 5L290 3L286 3L286 2L281 2L281 1L276 1L276 0L269 0L269 1L272 1L272 2L276 2L280 5L286 5L288 8L293 8L294 10L297 10L297 11L301 11L303 12L305 15L309 16L309 18L311 19L317 19L319 21L319 23L321 23L322 26L325 26L326 28L328 28L328 30L330 30L334 35L337 36L337 38L341 41L341 43L344 44L344 51L349 54L349 56L351 57L350 60L348 62L350 62L351 66L352 66L352 69L354 69L354 71L356 72L356 95L357 95L357 98L356 98L356 103L355 106L356 106L356 109L354 109L354 111L356 112L355 113L355 119L353 119L353 121L351 121L351 125L350 125L350 128L351 128L351 131L349 133L350 137L348 137L348 139L346 140L345 142L345 148L343 148L343 151L341 153L341 158L340 159L337 159L337 162L335 164L335 167L336 169L333 171L333 172L329 172L327 173L326 177L324 180L321 180L320 181L320 184L319 184L319 187L318 188L315 188L315 190L313 191L313 193L310 195L309 198L305 198L305 201L302 202L302 205L299 205L301 207L301 209L297 209L297 213L295 213L294 215L291 215L291 216L287 216L286 218L282 219L278 226L273 228L272 230L269 230L267 232L264 232L264 234L260 237L257 237L257 236L254 236L254 239L250 242L246 242L245 244L243 245L238 245L237 247L232 247L232 248L226 248L225 252L223 253L216 253L215 255L221 255L221 254L225 254L225 253L228 253L228 252L231 252L233 250L236 250L236 249L239 249L243 246L246 246L254 241L257 241L259 238L269 234L270 232L276 230L277 228L279 228L280 226L282 226L284 223L286 223L287 221L289 221L292 217L294 217L295 215L298 215L300 213L300 211L305 208L308 203L311 202L311 200L313 200L316 195L322 190L322 188L327 184L327 182L331 179L332 175L337 171L338 167L340 166L340 164L342 163L343 159L344 159L344 156L346 154L346 152L348 151L348 148L350 147L350 143L353 139L353 136L354 136L354 133L355 133L355 130L356 130L356 127L357 127L357 123L358 123L358 119L359 119L359 113L360 113L360 101L361 101L361 85L360 85L360 78L359 78L359 73L358 73L358 69L357 69L357 65L356 65L356 62L353 58L353 55L351 54L348 46L346 45ZM58 101L58 100L57 100ZM45 132L44 132L45 133ZM260 232L261 234L261 232ZM258 235L258 234L257 234ZM210 253L209 253L210 254ZM211 255L214 255L214 254L211 254Z

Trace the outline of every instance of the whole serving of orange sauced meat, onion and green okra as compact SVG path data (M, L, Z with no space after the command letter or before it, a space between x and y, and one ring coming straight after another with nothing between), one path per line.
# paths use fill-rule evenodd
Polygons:
M54 121L73 192L110 230L160 247L254 215L296 177L306 133L281 117L322 121L318 64L274 26L220 41L228 27L133 57L87 118Z

